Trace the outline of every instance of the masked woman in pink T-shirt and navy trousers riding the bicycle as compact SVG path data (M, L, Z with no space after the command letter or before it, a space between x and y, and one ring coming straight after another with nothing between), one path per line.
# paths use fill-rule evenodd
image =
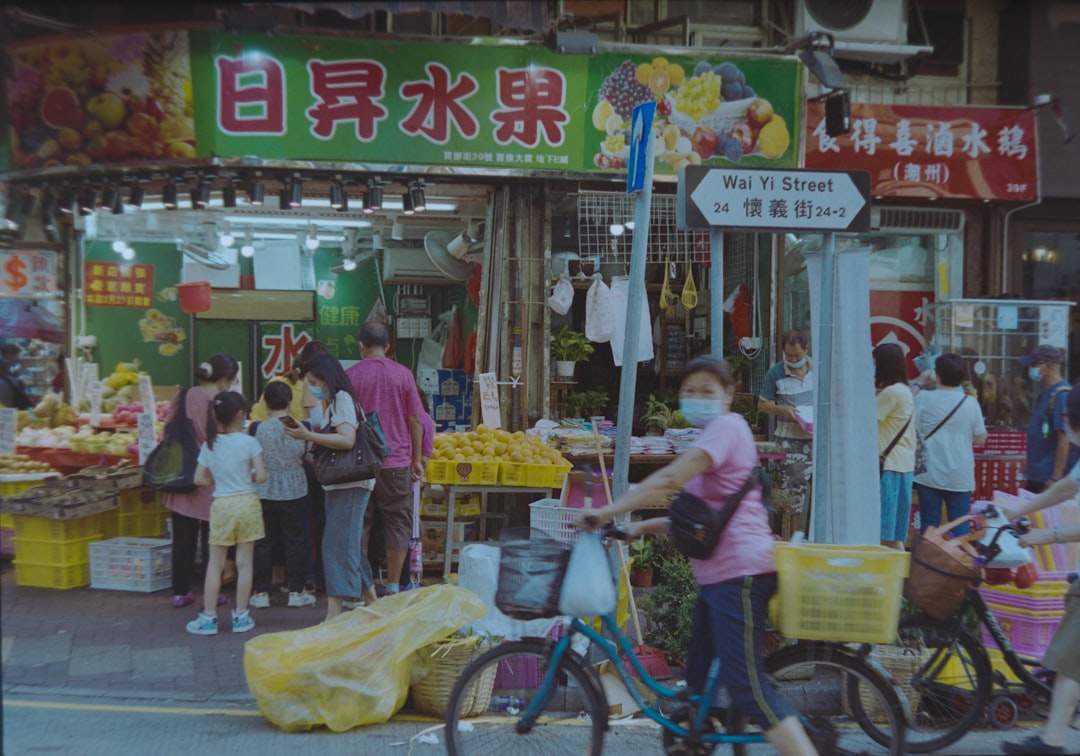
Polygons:
M649 475L624 496L582 514L586 529L617 514L654 508L679 490L701 497L719 510L758 465L750 426L731 414L734 378L726 362L702 356L683 372L679 410L702 429L698 441L671 464ZM663 532L667 518L631 523L630 536ZM712 660L732 704L764 730L781 754L813 754L813 744L794 707L769 683L764 659L769 598L777 590L773 535L758 487L739 504L713 554L691 559L700 590L687 658L687 685L702 692Z

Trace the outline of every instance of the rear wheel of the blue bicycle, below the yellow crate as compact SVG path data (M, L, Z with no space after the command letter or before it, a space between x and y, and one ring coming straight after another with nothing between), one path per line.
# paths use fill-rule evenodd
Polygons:
M799 712L820 754L904 753L904 706L896 689L851 649L834 643L805 642L766 659L777 690ZM873 712L880 740L858 726L851 691Z

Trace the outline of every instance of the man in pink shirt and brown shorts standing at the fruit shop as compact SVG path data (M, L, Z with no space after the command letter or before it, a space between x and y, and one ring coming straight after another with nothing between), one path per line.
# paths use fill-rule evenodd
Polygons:
M356 336L363 357L346 370L365 413L378 413L390 445L390 456L375 478L375 490L364 515L364 552L381 521L387 549L387 593L397 593L413 535L413 482L423 474L421 461L423 407L411 370L387 356L390 334L381 323L365 323ZM377 513L377 514L376 514ZM373 565L373 568L376 565ZM374 571L374 569L373 569Z

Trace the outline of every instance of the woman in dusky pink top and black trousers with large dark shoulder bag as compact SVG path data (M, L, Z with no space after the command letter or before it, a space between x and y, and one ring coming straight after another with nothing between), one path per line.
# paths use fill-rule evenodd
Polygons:
M219 391L227 389L240 364L231 354L218 352L195 367L195 387L185 394L184 414L194 427L195 448L202 448L206 441L206 408ZM166 422L176 416L179 396L173 400ZM191 593L191 577L194 572L195 550L202 542L204 558L210 554L210 505L214 501L214 486L197 486L186 494L165 494L164 504L172 510L173 519L173 606L177 609L194 604ZM233 569L233 572L235 570ZM225 596L218 596L225 603Z

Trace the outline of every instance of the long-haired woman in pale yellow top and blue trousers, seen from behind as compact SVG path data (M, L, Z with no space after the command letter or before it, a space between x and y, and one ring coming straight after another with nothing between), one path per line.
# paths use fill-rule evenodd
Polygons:
M881 490L881 545L904 551L912 518L915 476L915 397L907 386L904 350L899 343L874 349L877 387L878 472Z

